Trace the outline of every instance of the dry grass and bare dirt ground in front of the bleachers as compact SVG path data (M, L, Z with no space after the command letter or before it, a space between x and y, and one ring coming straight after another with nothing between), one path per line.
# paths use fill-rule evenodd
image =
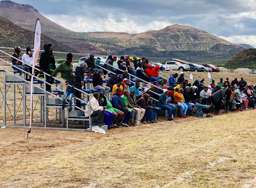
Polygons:
M256 187L256 110L111 129L0 129L0 187Z

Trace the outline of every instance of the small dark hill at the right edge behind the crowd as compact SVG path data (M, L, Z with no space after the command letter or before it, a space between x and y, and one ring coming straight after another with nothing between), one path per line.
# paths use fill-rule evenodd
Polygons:
M232 68L256 68L256 48L245 49L237 53L225 66Z

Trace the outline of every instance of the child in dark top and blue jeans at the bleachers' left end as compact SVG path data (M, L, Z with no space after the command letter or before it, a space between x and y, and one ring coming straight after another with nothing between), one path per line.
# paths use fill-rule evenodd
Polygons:
M66 89L66 92L63 96L63 100L62 100L62 109L64 109L65 107L65 100L67 98L67 96L69 96L69 108L68 111L70 112L72 110L72 98L74 97L75 93L77 92L77 90L75 88L80 88L80 83L77 81L77 76L73 75L72 79L69 81L66 81L66 84L68 85L72 85L71 87L68 86ZM75 87L75 88L74 88Z

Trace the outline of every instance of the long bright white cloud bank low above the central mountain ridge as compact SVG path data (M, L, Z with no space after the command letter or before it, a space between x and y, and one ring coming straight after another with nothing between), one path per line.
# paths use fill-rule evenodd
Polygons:
M108 16L105 19L95 19L82 15L44 15L51 21L73 31L114 31L140 33L148 30L158 30L172 23L168 21L152 20L151 22L139 25L139 23L129 19L128 15L119 17L117 21L113 16Z

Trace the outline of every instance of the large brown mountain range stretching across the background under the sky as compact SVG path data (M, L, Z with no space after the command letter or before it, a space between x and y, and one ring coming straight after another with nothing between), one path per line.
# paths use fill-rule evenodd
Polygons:
M34 30L38 17L42 33L80 52L105 54L137 54L145 56L187 57L203 55L211 58L230 58L245 46L230 43L203 30L190 26L170 25L160 30L150 30L138 34L124 32L74 32L41 15L34 7L9 0L0 1L0 15ZM207 56L210 55L210 56ZM200 61L205 58L194 58Z

